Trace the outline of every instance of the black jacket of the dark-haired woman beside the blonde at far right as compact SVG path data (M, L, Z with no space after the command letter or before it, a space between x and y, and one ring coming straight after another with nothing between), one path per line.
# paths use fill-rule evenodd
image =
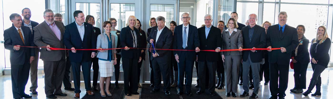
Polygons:
M297 63L308 64L310 62L310 53L309 53L309 40L303 35L301 42L298 44L297 56L295 56L295 50L291 52L291 57L297 61Z

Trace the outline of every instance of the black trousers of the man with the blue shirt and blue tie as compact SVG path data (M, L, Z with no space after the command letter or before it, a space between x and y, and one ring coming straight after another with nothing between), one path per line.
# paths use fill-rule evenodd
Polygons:
M269 90L272 96L286 96L288 87L289 65L269 64Z

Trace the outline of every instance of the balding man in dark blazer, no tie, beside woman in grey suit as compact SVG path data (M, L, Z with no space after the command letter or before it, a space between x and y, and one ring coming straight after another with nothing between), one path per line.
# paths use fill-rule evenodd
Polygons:
M242 28L243 33L243 46L244 49L255 49L266 47L266 34L265 28L257 25L257 15L249 15L249 25ZM250 99L258 98L259 91L259 72L260 62L262 61L261 50L244 50L243 51L243 75L241 76L244 81L249 81L249 70L252 68L253 76L253 93ZM249 95L249 82L243 82L243 94L240 97Z

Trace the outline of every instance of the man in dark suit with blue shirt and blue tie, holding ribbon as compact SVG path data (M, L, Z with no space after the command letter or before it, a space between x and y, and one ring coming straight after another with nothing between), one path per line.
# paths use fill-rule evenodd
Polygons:
M297 30L286 25L287 13L278 14L279 24L269 26L267 29L266 43L268 49L281 48L280 50L267 50L269 61L269 99L284 99L288 87L289 62L292 50L298 45Z

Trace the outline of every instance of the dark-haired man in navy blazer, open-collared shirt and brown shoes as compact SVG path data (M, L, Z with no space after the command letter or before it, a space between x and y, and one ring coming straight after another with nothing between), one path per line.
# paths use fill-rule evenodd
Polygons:
M64 44L69 52L69 60L72 64L73 79L75 87L74 98L80 98L80 72L82 66L83 79L88 95L94 95L90 85L91 59L95 57L96 50L75 50L75 49L96 49L96 37L93 25L84 22L85 17L82 11L74 11L75 21L66 25Z

